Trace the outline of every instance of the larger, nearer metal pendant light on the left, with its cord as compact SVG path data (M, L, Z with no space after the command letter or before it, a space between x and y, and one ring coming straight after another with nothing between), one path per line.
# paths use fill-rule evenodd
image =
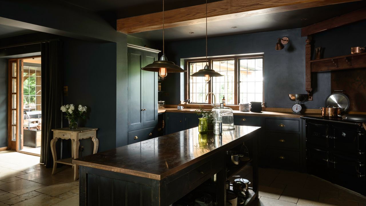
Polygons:
M178 72L186 72L186 70L180 68L178 65L175 65L174 62L168 61L165 56L164 51L164 0L163 0L163 56L160 57L160 60L154 61L153 63L142 67L142 70L145 71L155 71L159 72L160 77L166 77L168 73L178 73Z

